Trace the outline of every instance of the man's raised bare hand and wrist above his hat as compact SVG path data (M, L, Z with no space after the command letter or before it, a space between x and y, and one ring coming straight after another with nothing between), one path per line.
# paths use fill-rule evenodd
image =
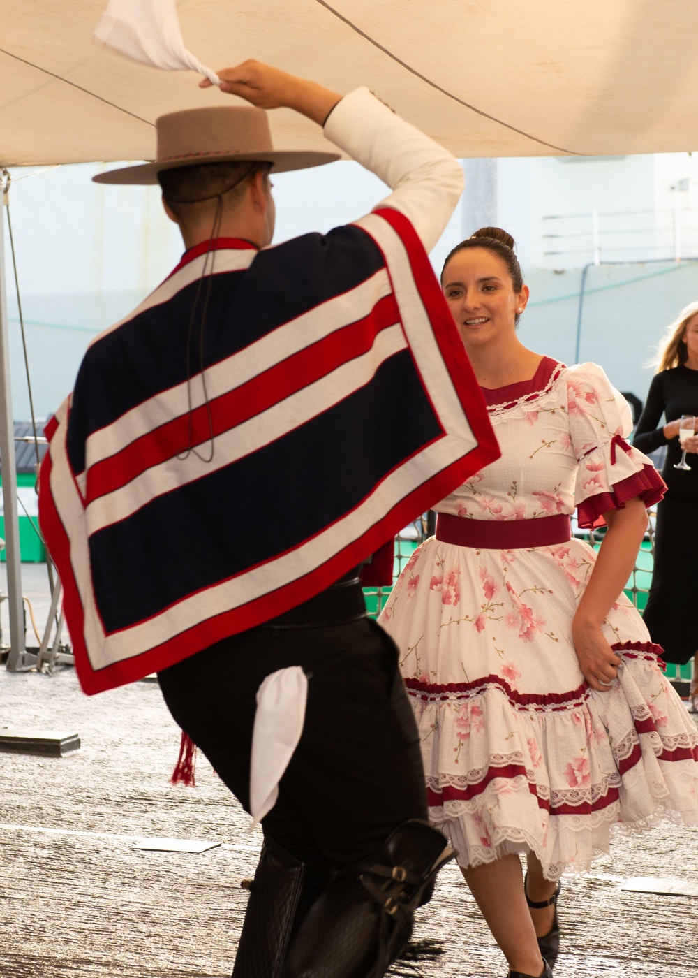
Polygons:
M278 67L246 61L237 67L225 67L218 71L221 91L251 102L259 109L294 109L323 125L327 115L341 96L328 88L288 74ZM199 88L210 88L211 82L203 78Z

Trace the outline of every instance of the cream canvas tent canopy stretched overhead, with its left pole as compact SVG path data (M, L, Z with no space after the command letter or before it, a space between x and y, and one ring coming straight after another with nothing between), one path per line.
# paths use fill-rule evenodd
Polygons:
M0 166L149 159L154 120L216 104L191 72L92 40L106 0L0 0ZM338 92L368 84L460 157L698 149L698 6L687 0L182 0L187 47L214 69L257 58ZM327 149L272 113L279 149ZM4 274L0 221L0 276ZM0 282L0 452L15 484ZM11 642L24 654L17 508L5 493ZM12 653L11 653L12 659Z

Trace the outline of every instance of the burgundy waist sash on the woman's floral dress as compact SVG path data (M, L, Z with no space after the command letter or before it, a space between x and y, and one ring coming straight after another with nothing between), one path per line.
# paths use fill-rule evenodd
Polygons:
M565 513L538 519L467 519L448 512L436 514L436 539L479 550L517 550L566 543L572 533Z

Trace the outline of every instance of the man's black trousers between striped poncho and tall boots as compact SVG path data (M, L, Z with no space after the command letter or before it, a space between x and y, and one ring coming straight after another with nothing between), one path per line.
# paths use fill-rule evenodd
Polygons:
M158 680L176 722L249 811L256 692L265 676L291 665L309 677L305 726L262 825L303 862L348 866L402 822L426 818L414 716L397 648L380 626L363 618L251 629Z

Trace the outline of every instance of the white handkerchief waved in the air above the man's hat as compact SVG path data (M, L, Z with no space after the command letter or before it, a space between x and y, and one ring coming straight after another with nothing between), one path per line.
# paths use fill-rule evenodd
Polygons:
M214 85L221 83L215 71L185 48L175 0L109 0L94 36L144 65L168 71L191 68Z

